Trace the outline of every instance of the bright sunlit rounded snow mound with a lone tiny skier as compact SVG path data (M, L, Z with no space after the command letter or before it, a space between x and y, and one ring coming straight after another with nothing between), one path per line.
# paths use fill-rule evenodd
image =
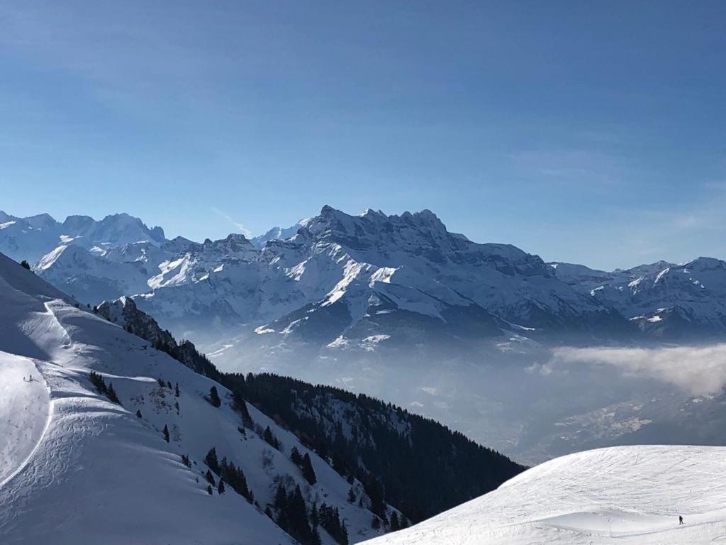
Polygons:
M682 515L685 525L678 524ZM726 543L726 448L570 454L367 545Z

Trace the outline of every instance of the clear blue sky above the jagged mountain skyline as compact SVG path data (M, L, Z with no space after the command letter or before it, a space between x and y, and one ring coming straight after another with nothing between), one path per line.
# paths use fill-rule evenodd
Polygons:
M0 0L0 209L200 240L428 208L547 260L726 258L725 24L722 1Z

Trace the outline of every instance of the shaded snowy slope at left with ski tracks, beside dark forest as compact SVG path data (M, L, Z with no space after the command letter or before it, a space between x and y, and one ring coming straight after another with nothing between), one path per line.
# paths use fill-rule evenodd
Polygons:
M91 370L123 406L92 386ZM159 378L178 383L179 397ZM205 399L215 384L0 254L0 544L291 544L263 512L279 478L338 507L351 543L380 533L348 503L351 485L252 405L255 424L282 446L242 434L227 389L216 384L219 408ZM229 485L208 493L211 447L244 470L261 507ZM290 461L293 447L310 453L316 484Z

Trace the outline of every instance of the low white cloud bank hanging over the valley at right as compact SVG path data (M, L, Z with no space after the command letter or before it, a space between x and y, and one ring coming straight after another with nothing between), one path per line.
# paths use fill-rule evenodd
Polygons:
M704 347L573 348L552 351L552 364L594 363L675 384L693 395L717 395L726 385L726 343Z

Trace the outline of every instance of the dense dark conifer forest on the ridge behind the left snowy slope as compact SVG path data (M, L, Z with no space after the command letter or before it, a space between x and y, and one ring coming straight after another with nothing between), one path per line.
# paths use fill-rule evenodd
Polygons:
M131 332L146 339L144 328ZM330 461L350 483L358 479L367 507L388 528L481 496L525 469L460 432L374 397L274 374L222 373L194 344L176 344L164 333L164 342L154 339L155 348L231 390L245 427L252 427L246 400ZM213 390L208 400L219 406ZM343 406L343 413L335 413L335 406ZM274 438L262 434L274 447ZM386 504L396 506L403 520L397 515L395 522L389 520Z

